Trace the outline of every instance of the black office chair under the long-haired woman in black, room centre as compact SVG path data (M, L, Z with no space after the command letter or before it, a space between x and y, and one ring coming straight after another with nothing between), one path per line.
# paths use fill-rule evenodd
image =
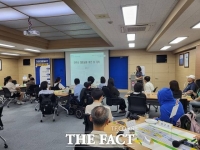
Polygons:
M121 98L112 98L111 97L111 94L110 94L110 90L107 86L104 86L102 88L102 91L106 97L106 104L108 106L117 106L117 110L116 111L112 111L112 113L116 113L118 112L119 108L118 108L118 105L121 103ZM124 116L126 113L121 113L121 114L113 114L113 117L121 117L121 116Z

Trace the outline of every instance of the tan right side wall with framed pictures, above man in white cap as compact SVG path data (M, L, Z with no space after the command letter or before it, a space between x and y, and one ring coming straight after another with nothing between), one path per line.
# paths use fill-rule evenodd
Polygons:
M189 68L184 68L184 66L179 66L179 55L189 52ZM187 83L186 76L196 75L196 49L185 51L184 53L176 54L176 80L179 82L180 89L184 89L184 85Z

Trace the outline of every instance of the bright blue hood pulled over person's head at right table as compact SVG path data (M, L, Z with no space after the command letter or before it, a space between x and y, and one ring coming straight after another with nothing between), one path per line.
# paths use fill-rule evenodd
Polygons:
M175 102L175 99L173 97L172 91L170 88L162 88L158 91L158 101L160 105L163 105L164 103L173 101Z

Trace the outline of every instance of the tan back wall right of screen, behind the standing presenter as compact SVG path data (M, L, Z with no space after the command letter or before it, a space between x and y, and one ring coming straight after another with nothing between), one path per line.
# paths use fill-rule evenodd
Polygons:
M156 63L157 54L167 54L167 63ZM151 77L155 87L169 87L169 81L175 79L175 55L171 52L149 53L145 50L110 51L110 57L128 56L128 77L135 72L136 66L145 66L145 75ZM130 83L129 89L130 89Z

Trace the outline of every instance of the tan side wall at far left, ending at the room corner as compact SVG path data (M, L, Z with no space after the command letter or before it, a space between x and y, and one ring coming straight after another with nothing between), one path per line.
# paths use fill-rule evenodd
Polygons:
M0 58L2 60L2 70L0 71L0 86L3 86L4 78L11 76L13 79L19 79L18 59Z

